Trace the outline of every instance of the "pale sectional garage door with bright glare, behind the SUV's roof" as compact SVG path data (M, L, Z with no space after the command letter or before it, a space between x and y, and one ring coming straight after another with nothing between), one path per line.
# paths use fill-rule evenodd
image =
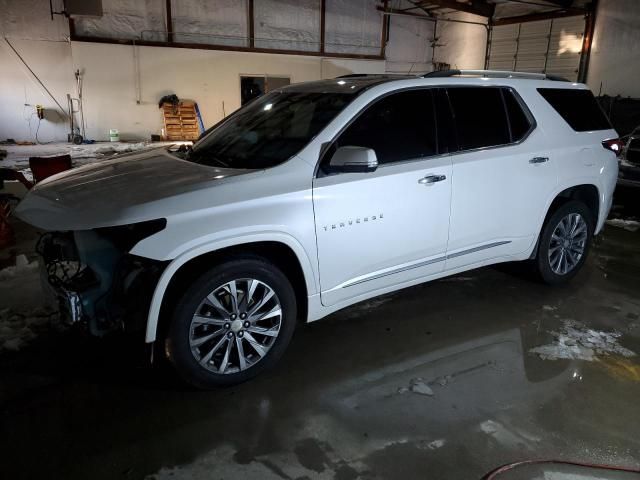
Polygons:
M583 16L493 27L488 68L560 75L577 80Z

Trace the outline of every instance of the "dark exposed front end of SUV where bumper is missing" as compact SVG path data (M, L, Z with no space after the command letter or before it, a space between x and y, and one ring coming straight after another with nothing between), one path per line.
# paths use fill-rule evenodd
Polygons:
M45 233L37 245L47 289L69 323L102 336L143 330L167 262L128 252L162 230L164 220L94 230Z

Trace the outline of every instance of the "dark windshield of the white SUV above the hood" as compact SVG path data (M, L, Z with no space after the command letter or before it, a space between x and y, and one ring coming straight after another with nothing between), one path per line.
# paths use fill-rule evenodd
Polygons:
M206 134L193 146L188 159L223 168L273 167L298 153L354 96L271 92Z

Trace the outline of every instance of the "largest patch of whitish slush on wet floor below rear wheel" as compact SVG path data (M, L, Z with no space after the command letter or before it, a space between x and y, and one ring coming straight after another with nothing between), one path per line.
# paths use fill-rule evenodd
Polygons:
M621 355L633 357L635 352L618 343L621 333L604 332L585 327L579 322L565 320L559 332L551 332L553 343L532 348L529 352L543 360L586 360L597 361L599 356Z

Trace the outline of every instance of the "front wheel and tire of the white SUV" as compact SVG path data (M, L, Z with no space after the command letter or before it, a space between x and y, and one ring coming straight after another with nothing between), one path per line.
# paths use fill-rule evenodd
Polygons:
M296 317L287 277L261 257L237 257L201 275L180 297L165 354L178 375L196 388L235 385L280 359Z

